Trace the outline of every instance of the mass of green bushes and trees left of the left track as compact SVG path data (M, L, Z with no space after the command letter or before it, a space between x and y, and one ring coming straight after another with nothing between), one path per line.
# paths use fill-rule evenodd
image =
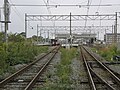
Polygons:
M31 38L25 41L25 33L9 33L8 43L4 42L4 32L0 32L0 74L9 70L10 66L29 63L33 58L48 50L48 47L35 46Z

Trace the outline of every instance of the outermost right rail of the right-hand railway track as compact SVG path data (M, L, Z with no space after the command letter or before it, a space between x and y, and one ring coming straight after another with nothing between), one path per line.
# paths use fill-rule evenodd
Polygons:
M116 83L120 86L120 79L113 73L111 70L106 67L102 62L100 62L95 56L93 56L85 47L83 47L106 71L110 73L112 78L116 81Z

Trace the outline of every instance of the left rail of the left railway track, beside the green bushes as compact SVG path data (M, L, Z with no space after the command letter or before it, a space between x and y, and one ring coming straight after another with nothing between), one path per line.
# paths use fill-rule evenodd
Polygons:
M20 69L19 71L13 73L12 75L10 75L9 77L5 78L4 80L2 80L0 82L0 87L3 87L5 84L7 84L8 82L10 82L11 80L15 79L16 77L18 77L19 75L21 75L22 73L24 73L25 70L29 69L33 64L35 64L36 62L38 62L39 60L41 60L42 58L46 57L48 54L50 54L52 51L54 51L57 47L55 47L54 49L52 49L51 51L49 51L47 54L44 54L43 56L41 56L39 59L36 59L35 61L33 61L32 63L28 64L27 66L23 67L22 69Z

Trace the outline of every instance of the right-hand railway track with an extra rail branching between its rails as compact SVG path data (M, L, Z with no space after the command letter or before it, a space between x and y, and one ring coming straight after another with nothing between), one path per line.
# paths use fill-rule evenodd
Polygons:
M90 90L120 90L120 79L86 47L80 46ZM94 62L92 64L91 62Z

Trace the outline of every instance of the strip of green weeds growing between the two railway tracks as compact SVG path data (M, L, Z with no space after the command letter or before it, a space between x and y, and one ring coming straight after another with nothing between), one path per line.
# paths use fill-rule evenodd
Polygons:
M71 62L73 58L76 57L77 49L64 49L61 50L61 61L55 66L57 69L55 74L58 77L57 81L50 82L46 81L46 85L43 88L38 88L37 90L70 90L71 89L71 80L70 75L72 73Z

